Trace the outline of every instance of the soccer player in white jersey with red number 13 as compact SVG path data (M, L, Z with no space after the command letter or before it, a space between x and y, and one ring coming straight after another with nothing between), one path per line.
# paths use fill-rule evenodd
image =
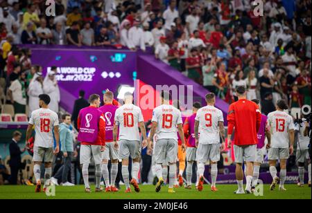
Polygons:
M273 178L270 189L275 189L279 183L279 190L285 191L284 183L286 180L286 162L290 154L293 154L293 143L295 131L293 118L284 110L288 106L284 100L277 101L277 111L268 114L268 128L270 128L271 142L268 143L268 160L270 164L270 174ZM277 177L276 163L280 162L281 171Z

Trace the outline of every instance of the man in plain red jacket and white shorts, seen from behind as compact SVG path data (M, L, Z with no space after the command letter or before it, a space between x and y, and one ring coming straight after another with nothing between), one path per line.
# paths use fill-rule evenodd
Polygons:
M257 154L257 132L261 124L261 112L254 102L246 99L246 89L244 86L238 86L236 93L239 101L229 106L227 114L227 141L229 148L232 146L232 133L234 133L234 155L236 162L236 180L239 189L236 194L245 194L243 189L243 162L246 162L246 193L251 193L253 163Z

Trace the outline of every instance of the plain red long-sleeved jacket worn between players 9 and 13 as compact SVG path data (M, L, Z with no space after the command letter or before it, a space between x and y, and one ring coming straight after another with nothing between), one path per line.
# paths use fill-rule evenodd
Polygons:
M257 145L257 133L261 124L261 112L259 107L250 100L241 99L229 106L227 114L227 133L234 133L234 145Z

